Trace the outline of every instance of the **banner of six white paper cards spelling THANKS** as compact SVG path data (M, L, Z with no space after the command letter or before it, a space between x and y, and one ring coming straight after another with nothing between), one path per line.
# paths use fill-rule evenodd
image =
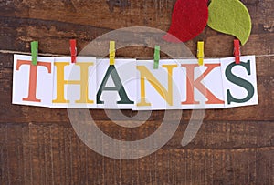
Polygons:
M15 55L13 104L48 108L132 110L234 108L258 105L254 56L153 60Z

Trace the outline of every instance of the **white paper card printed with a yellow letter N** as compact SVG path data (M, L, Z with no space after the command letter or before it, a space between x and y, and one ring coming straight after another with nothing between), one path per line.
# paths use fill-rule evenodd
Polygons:
M183 75L176 60L160 60L153 68L153 60L137 61L137 105L135 110L180 109Z

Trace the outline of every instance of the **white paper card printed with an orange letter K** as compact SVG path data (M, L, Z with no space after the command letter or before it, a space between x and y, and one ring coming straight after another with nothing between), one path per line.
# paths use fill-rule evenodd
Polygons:
M178 60L181 67L182 109L226 108L221 64L219 59Z

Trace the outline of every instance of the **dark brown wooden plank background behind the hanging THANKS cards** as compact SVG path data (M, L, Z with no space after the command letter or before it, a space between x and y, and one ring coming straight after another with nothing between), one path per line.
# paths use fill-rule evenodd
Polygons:
M70 38L79 50L97 36L125 26L166 31L175 0L1 0L0 1L0 184L274 184L274 4L243 0L253 29L243 55L257 55L259 105L207 110L191 144L180 145L191 115L163 149L136 160L108 159L77 137L66 109L11 104L13 51L29 52L39 41L43 54L68 55ZM233 36L206 27L186 43L195 54L205 41L206 57L230 57ZM153 57L153 49L124 48L118 57ZM113 126L102 110L92 110L100 128L112 137L148 136L163 119L154 111L142 127ZM115 114L115 111L113 111ZM123 111L129 116L132 111ZM130 136L130 137L129 137Z

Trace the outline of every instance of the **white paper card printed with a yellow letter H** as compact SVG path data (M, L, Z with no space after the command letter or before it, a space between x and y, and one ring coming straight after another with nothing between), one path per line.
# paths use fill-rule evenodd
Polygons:
M53 108L96 108L96 58L55 58Z

